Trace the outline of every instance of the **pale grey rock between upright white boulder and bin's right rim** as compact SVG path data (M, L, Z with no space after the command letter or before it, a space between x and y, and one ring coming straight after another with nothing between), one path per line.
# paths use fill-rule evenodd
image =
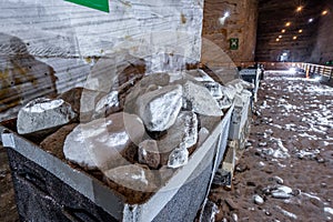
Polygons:
M203 115L223 115L218 102L211 95L210 91L204 87L188 81L183 85L183 107L185 109L190 109L193 112Z

